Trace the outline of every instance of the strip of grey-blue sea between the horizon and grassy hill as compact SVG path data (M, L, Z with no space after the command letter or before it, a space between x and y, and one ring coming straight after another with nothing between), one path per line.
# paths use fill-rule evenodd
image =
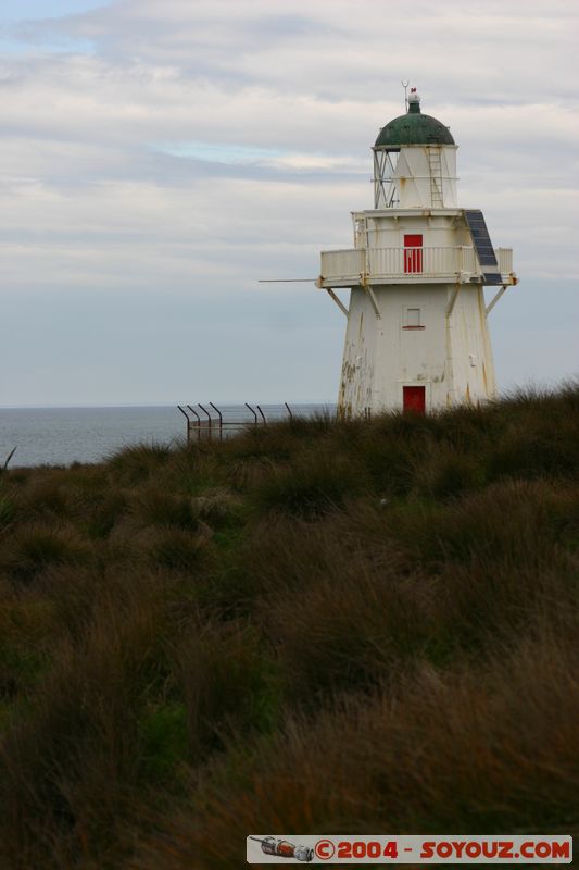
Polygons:
M188 421L192 436L199 418L202 436L229 437L246 425L263 425L295 417L333 414L331 403L142 406L114 408L0 408L0 468L14 448L9 468L71 465L100 462L134 444L177 445L187 440ZM185 412L185 413L184 413ZM219 430L218 413L223 428ZM197 417L197 415L198 417Z

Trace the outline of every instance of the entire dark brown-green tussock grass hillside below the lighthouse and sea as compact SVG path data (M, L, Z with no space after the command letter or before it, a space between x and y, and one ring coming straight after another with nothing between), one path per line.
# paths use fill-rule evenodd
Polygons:
M578 484L574 384L8 469L0 866L578 833Z

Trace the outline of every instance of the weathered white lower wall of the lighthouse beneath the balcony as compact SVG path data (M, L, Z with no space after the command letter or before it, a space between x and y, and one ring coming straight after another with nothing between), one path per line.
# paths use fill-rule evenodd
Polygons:
M480 401L495 391L481 285L375 286L377 318L363 288L351 294L340 383L342 412L402 409L402 387L427 386L427 408ZM419 309L421 326L406 326Z

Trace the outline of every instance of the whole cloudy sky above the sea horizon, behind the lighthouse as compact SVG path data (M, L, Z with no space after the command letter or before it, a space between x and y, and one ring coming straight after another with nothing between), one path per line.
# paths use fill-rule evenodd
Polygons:
M402 80L513 247L501 390L579 373L579 5L0 0L0 406L333 401L310 283Z

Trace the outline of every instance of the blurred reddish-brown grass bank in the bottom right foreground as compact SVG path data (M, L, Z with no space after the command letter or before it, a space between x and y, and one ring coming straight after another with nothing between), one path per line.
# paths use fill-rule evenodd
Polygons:
M229 770L225 759L201 781L130 866L232 867L248 831L281 828L575 830L575 630L556 638L544 627L482 667L439 674L426 666L383 693L351 696L314 723L289 720L240 765Z

